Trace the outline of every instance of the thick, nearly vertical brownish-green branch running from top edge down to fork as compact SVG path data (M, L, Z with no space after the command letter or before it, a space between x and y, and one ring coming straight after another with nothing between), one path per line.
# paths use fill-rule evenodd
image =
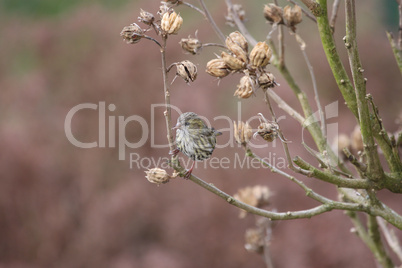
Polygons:
M356 14L354 0L346 0L346 48L348 50L349 63L352 71L355 94L357 98L357 110L360 130L367 156L367 175L373 181L379 181L384 177L377 146L374 143L370 112L366 100L366 82L363 77L363 68L359 58L356 40Z

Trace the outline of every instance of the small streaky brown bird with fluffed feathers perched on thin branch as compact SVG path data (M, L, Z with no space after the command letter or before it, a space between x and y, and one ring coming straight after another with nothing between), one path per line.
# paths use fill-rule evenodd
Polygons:
M190 178L195 161L208 159L215 149L216 136L222 135L221 132L209 128L205 122L193 112L183 113L177 119L176 129L177 149L193 160L191 168L186 172L185 178Z

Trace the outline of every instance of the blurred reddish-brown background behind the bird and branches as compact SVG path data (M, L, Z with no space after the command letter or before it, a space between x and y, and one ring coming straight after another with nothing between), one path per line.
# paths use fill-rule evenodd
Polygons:
M332 1L329 1L332 5ZM401 113L402 80L385 31L396 33L395 1L357 1L361 60L368 92L380 107L384 124L397 130ZM363 3L364 2L364 3ZM244 232L255 218L238 219L238 209L190 181L174 180L157 187L145 179L148 162L130 169L129 154L142 158L166 157L167 148L153 148L150 138L138 149L81 149L66 138L64 120L81 103L116 105L106 118L138 115L151 122L151 104L163 102L160 54L147 40L127 45L119 33L137 22L140 8L156 14L159 1L50 1L3 0L0 11L0 267L264 267L262 258L244 249ZM258 40L270 31L262 16L266 1L245 7L247 25ZM197 1L194 1L197 4ZM224 1L206 1L225 34ZM281 5L284 6L285 2ZM344 64L343 8L335 36ZM217 129L228 128L225 115L237 120L238 100L233 97L239 75L218 85L204 72L219 50L205 48L200 56L184 54L178 41L188 35L202 42L218 42L210 26L186 7L178 36L170 38L168 62L189 59L198 63L198 79L187 86L177 79L171 87L172 104L211 119ZM307 53L315 68L324 105L339 100L338 123L349 134L355 125L345 109L318 39L316 26L306 17L300 25ZM311 80L293 37L286 34L286 63L299 85L312 97ZM275 90L300 111L295 96L274 70ZM173 78L173 75L170 79ZM313 98L311 98L313 103ZM241 102L241 119L258 112L268 114L259 92ZM278 116L286 115L275 106ZM177 114L173 114L176 120ZM165 142L162 109L156 110L155 140ZM281 121L292 141L293 155L311 157L300 144L301 128L286 115ZM98 141L98 111L82 110L73 118L73 134L83 142ZM106 125L108 127L108 125ZM256 125L253 125L256 127ZM127 125L126 137L139 141L138 122ZM116 142L118 137L116 128ZM108 135L106 135L106 141ZM230 137L220 137L224 144ZM307 142L312 145L311 139ZM262 144L260 140L255 143ZM106 143L108 145L108 143ZM256 150L261 156L275 148ZM237 147L217 149L214 156L243 157ZM272 157L274 157L272 155ZM169 171L171 172L171 171ZM199 165L194 174L234 194L239 188L262 184L274 193L270 209L306 209L317 205L304 192L267 169L213 169ZM336 198L334 187L314 179L303 181L317 192ZM388 191L379 196L402 213L402 197ZM271 251L276 267L376 267L363 242L350 232L352 224L341 211L309 220L275 223ZM401 232L396 230L401 237ZM402 237L401 237L402 238ZM395 256L393 256L395 257Z

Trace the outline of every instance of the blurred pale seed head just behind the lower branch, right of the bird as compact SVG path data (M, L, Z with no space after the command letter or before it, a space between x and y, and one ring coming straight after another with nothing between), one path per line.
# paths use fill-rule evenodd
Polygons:
M235 199L258 208L268 205L270 196L271 192L269 188L261 185L241 188L235 195L233 195ZM246 211L241 210L239 216L240 218L244 218L246 214Z

